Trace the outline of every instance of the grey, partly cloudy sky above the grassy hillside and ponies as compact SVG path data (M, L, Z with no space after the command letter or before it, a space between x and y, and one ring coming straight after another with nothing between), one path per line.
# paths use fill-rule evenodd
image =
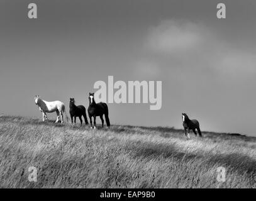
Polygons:
M108 76L160 80L160 110L108 104L111 123L182 128L186 112L202 131L256 136L255 19L254 0L1 0L0 113L42 117L35 95L87 108Z

